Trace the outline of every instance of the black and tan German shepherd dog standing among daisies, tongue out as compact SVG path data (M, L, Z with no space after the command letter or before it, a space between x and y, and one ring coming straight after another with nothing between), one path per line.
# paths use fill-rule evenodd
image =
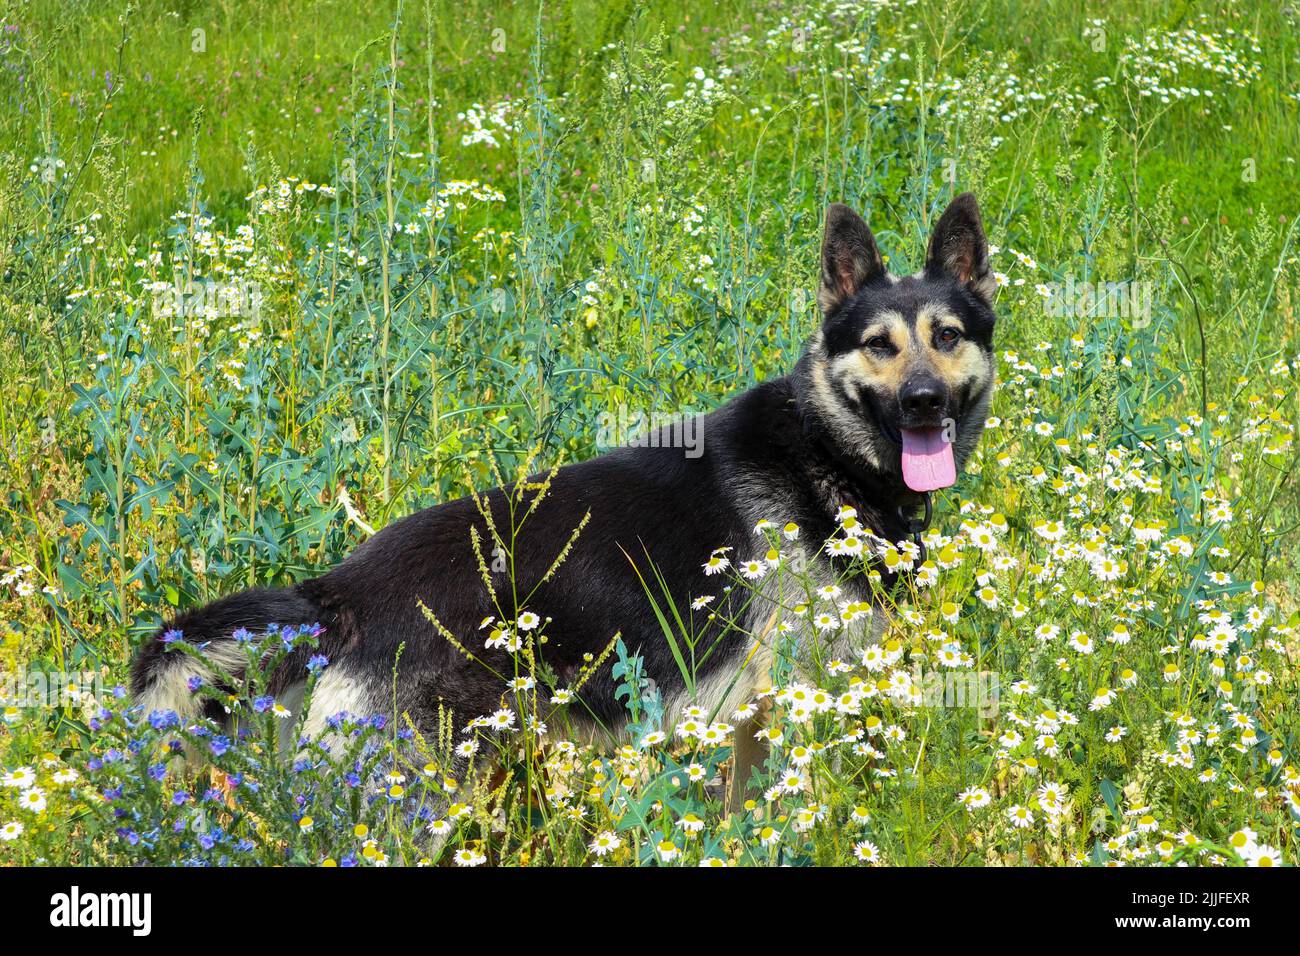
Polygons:
M667 440L641 441L554 473L512 558L517 593L537 587L529 610L550 619L538 654L560 685L620 632L642 657L646 676L673 701L670 714L694 702L729 717L729 708L749 700L758 669L748 669L753 678L742 671L753 637L720 622L749 615L753 626L755 611L742 613L744 589L720 587L703 564L720 548L736 559L763 554L768 545L754 533L762 519L796 522L806 558L828 561L820 544L836 532L842 506L855 509L875 535L905 537L924 493L956 481L984 428L993 390L993 291L972 195L953 200L931 237L924 269L906 277L889 274L857 213L831 206L818 291L823 321L789 376L694 419L703 445L694 457ZM498 528L508 527L508 493L494 489L480 498ZM540 583L588 512L567 561ZM421 731L437 726L439 705L458 724L493 713L511 695L493 671L514 667L504 648L484 650L477 635L495 607L510 606L511 581L493 575L497 604L480 572L472 527L480 540L491 540L473 498L450 501L384 528L320 578L254 588L179 614L139 650L131 675L136 701L182 718L203 709L187 687L205 676L203 663L166 653L177 631L209 659L237 667L238 628L318 623L320 646L294 652L272 679L286 702L295 688L300 701L307 654L329 658L306 719L308 735L325 736L326 722L342 711L408 714ZM714 631L701 637L694 701L638 574L649 564L682 619L693 598L727 592L708 607ZM491 670L441 636L421 602ZM590 675L569 713L618 730L624 708L610 671L604 665ZM737 745L740 737L737 731Z

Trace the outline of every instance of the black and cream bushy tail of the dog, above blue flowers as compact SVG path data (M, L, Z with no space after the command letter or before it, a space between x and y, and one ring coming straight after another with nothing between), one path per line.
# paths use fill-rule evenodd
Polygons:
M254 633L269 624L315 624L321 609L298 588L252 588L185 611L150 637L131 665L131 692L144 711L174 710L182 719L200 714L204 700L191 689L191 682L214 679L213 667L192 654L169 649L176 641L199 648L212 665L230 676L243 676L247 658L234 633L247 628ZM220 719L220 714L209 713Z

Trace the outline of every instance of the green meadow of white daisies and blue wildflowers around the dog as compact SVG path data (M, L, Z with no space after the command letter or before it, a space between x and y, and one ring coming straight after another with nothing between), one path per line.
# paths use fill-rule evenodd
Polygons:
M0 21L0 865L1300 861L1300 8ZM520 594L474 633L430 618L517 662L499 710L437 739L351 715L332 753L283 747L330 666L313 622L237 635L237 693L192 688L234 726L133 706L131 656L177 610L784 375L819 324L827 204L902 274L963 191L998 388L924 555L884 555L902 584L872 607L794 559L861 553L844 512L824 545L774 514L751 554L701 555L716 593L689 607L646 588L688 685L724 589L780 596L755 643L879 641L670 714L615 635L563 685ZM290 654L304 701L268 691ZM571 721L601 669L620 740Z

